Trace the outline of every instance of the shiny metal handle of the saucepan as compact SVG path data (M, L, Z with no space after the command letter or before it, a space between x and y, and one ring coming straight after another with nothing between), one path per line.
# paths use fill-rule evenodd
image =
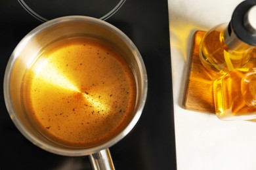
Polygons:
M108 148L100 150L95 154L89 155L91 165L95 170L114 170L114 163L112 161L110 150Z

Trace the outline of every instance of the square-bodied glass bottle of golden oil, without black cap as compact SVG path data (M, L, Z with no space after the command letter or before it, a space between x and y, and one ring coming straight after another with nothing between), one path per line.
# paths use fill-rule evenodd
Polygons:
M234 69L213 83L215 112L221 120L256 118L256 68Z

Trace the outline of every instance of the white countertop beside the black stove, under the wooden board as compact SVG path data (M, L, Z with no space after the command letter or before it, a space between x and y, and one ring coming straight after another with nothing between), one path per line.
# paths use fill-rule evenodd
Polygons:
M182 109L192 36L229 22L242 0L168 0L178 170L255 170L256 122Z

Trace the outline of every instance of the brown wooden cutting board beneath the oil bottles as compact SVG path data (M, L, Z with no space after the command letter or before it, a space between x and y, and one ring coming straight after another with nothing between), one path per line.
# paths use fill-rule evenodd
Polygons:
M194 34L182 107L214 114L213 81L219 75L205 69L200 61L199 45L204 34L204 31L196 31Z

